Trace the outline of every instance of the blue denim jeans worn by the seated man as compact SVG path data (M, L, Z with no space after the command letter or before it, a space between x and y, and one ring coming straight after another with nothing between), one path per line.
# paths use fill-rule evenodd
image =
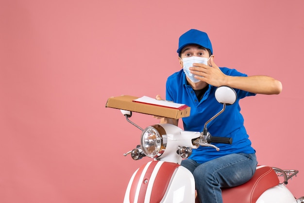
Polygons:
M233 153L203 164L185 159L181 165L192 172L201 203L222 203L220 188L239 186L249 181L257 161L254 153Z

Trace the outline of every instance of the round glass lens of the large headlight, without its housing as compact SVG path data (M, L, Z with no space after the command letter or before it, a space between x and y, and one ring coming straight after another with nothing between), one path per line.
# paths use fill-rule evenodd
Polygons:
M141 134L140 145L147 156L158 157L162 150L162 135L155 128L147 127Z

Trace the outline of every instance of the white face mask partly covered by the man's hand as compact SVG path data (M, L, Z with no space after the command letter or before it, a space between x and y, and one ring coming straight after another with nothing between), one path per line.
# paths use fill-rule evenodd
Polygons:
M193 83L198 83L200 82L199 79L194 78L194 75L192 73L190 73L189 68L193 67L193 64L204 64L206 66L208 66L208 61L211 58L211 56L209 58L204 58L204 57L198 57L198 56L191 56L191 57L186 57L181 59L181 61L183 62L183 69L184 72L186 74L186 76L193 82Z

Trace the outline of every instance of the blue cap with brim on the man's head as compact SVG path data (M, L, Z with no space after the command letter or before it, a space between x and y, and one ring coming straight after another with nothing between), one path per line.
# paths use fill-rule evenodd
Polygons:
M199 30L191 29L186 33L182 34L178 41L177 52L180 54L184 47L191 44L197 44L206 49L209 49L211 51L211 54L213 54L211 41L207 33L204 33Z

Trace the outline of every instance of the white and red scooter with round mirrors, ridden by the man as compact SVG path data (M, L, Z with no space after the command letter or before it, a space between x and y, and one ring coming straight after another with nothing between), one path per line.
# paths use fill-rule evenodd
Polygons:
M155 124L142 129L129 118L132 111L121 110L126 120L142 131L140 145L124 154L134 160L144 156L152 161L142 165L132 175L127 186L124 203L196 203L195 181L192 173L181 166L181 161L190 156L199 146L220 149L211 143L231 144L232 139L212 136L207 124L217 118L236 101L233 88L220 86L215 92L223 104L220 112L210 118L203 132L183 131L171 124ZM257 166L255 174L247 183L232 188L222 188L224 203L304 203L304 197L296 199L287 189L288 180L298 170L282 170L269 166ZM279 178L282 177L282 178ZM284 179L281 183L280 180Z

